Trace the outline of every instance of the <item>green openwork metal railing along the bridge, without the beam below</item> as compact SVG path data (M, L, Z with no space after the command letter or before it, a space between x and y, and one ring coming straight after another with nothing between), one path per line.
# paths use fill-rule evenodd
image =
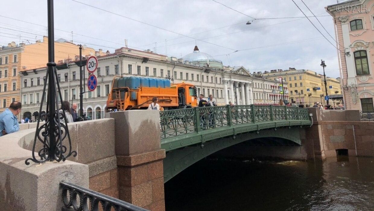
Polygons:
M219 131L219 128L279 121L288 121L289 126L291 122L296 122L292 126L307 125L309 113L304 108L274 105L227 105L160 111L160 138L164 141L209 130Z

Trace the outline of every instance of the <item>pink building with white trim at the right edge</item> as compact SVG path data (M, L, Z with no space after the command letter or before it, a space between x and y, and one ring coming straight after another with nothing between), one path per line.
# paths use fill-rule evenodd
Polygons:
M334 18L346 109L374 112L374 0L325 7Z

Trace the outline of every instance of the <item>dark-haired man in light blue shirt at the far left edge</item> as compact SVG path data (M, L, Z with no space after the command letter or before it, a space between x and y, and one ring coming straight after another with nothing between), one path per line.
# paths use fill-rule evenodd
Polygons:
M0 114L0 136L19 130L17 115L21 112L21 106L21 102L12 102L9 108Z

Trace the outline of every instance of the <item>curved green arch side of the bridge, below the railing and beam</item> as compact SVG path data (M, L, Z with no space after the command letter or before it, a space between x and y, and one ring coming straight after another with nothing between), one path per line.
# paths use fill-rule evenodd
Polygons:
M227 147L249 141L257 138L281 138L294 142L295 145L301 146L300 128L292 127L291 129L282 128L278 130L261 130L259 133L242 133L235 136L229 136L220 139L214 139L204 142L203 147L200 144L191 145L185 148L169 151L163 161L164 183L169 181L175 175L184 169L198 162L199 160Z

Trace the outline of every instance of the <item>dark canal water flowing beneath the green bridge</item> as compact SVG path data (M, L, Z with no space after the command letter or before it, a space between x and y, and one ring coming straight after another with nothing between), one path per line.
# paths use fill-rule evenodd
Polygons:
M374 158L208 157L165 183L166 211L374 210Z

